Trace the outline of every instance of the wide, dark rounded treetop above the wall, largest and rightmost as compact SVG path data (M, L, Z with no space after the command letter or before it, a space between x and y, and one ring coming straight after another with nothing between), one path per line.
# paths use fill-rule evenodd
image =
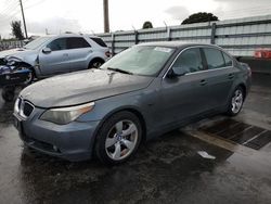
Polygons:
M206 13L206 12L198 12L190 15L188 18L185 18L182 22L183 24L194 24L194 23L203 23L203 22L212 22L212 21L219 21L216 15L212 13Z

